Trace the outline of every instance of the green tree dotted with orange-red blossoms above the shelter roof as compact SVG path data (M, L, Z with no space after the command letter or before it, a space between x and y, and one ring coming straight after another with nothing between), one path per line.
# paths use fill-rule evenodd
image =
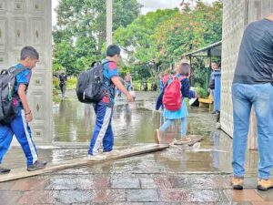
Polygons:
M221 40L222 4L197 2L194 10L186 8L160 27L157 31L159 58L168 65L187 52Z

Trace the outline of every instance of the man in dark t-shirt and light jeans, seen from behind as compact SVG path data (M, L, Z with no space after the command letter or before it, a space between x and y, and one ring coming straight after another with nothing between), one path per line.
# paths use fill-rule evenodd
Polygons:
M242 190L245 175L249 116L254 108L258 124L258 190L273 188L273 15L245 30L232 85L233 189Z

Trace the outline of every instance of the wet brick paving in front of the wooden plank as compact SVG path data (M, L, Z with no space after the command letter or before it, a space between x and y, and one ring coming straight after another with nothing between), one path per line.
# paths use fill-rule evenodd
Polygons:
M161 158L169 154L170 149L4 182L0 204L273 204L273 191L254 189L254 178L246 179L245 190L230 190L228 174L183 172L176 161Z

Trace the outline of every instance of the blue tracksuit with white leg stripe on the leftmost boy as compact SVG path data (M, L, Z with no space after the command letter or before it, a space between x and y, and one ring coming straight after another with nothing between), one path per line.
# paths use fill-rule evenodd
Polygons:
M15 67L19 68L22 67L22 65L18 64ZM6 151L10 147L14 135L25 153L27 165L34 164L38 159L35 143L31 138L31 130L25 119L25 111L17 94L20 84L25 84L26 87L28 86L31 74L31 69L25 69L16 76L15 96L13 103L17 108L18 113L10 124L0 125L0 164L2 163L2 159L5 156Z

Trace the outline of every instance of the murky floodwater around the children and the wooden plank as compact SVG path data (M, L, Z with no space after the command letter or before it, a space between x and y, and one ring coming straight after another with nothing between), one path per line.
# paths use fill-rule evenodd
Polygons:
M160 113L154 111L155 97L147 94L142 100L126 103L116 101L112 127L115 148L126 149L154 143L154 130L163 123ZM171 146L169 149L147 154L143 157L121 159L105 166L140 173L145 172L231 172L232 139L215 129L215 119L207 108L188 108L187 134L204 138L192 147ZM54 147L39 148L43 159L58 163L66 159L86 157L88 144L93 132L96 115L91 105L79 103L76 97L54 100ZM163 141L179 138L180 122L167 129ZM246 168L248 174L256 173L257 151L248 151ZM11 168L25 166L25 157L20 147L14 147L6 155L5 165ZM152 166L149 166L152 165ZM119 166L121 166L119 168ZM78 169L77 169L78 170ZM91 171L84 169L85 171ZM94 171L94 169L92 169Z

